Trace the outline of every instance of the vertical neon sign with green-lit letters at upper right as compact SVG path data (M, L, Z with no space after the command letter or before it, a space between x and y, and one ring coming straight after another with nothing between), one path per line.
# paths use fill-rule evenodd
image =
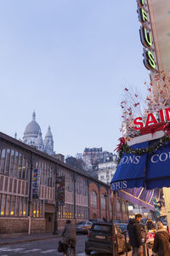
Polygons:
M139 21L142 26L139 29L140 40L144 45L144 66L150 70L156 70L156 61L153 54L153 40L151 37L148 5L145 0L137 0Z

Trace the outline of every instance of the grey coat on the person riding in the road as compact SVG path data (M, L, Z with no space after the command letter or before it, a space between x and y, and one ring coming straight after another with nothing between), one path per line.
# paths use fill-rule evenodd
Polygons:
M66 245L68 245L70 240L74 241L73 246L76 247L77 230L74 224L65 224L65 230L63 231L63 234L62 234L62 243L65 243Z

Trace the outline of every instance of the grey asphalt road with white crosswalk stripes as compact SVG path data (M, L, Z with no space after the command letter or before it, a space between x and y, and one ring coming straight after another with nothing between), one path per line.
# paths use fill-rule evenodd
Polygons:
M87 256L84 253L84 244L87 239L87 236L77 236L77 256ZM55 236L55 238L44 239L38 241L27 241L16 244L10 244L7 246L0 245L0 255L1 256L38 256L38 255L49 255L49 256L62 256L62 253L58 253L58 242L59 237ZM106 256L104 253L91 253L94 256ZM150 253L151 254L151 253ZM109 255L109 254L108 254ZM122 254L126 255L126 254ZM132 252L127 254L128 256L132 255Z

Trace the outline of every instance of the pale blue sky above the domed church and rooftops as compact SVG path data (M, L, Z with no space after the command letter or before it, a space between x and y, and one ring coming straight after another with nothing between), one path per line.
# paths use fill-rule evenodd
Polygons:
M35 109L56 153L113 151L123 88L149 80L135 0L0 1L1 129L23 137Z

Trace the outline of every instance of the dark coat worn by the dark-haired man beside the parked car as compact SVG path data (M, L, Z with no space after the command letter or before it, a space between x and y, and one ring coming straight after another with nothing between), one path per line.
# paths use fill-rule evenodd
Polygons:
M137 219L130 218L127 224L129 241L132 247L140 247L142 242L141 226Z

